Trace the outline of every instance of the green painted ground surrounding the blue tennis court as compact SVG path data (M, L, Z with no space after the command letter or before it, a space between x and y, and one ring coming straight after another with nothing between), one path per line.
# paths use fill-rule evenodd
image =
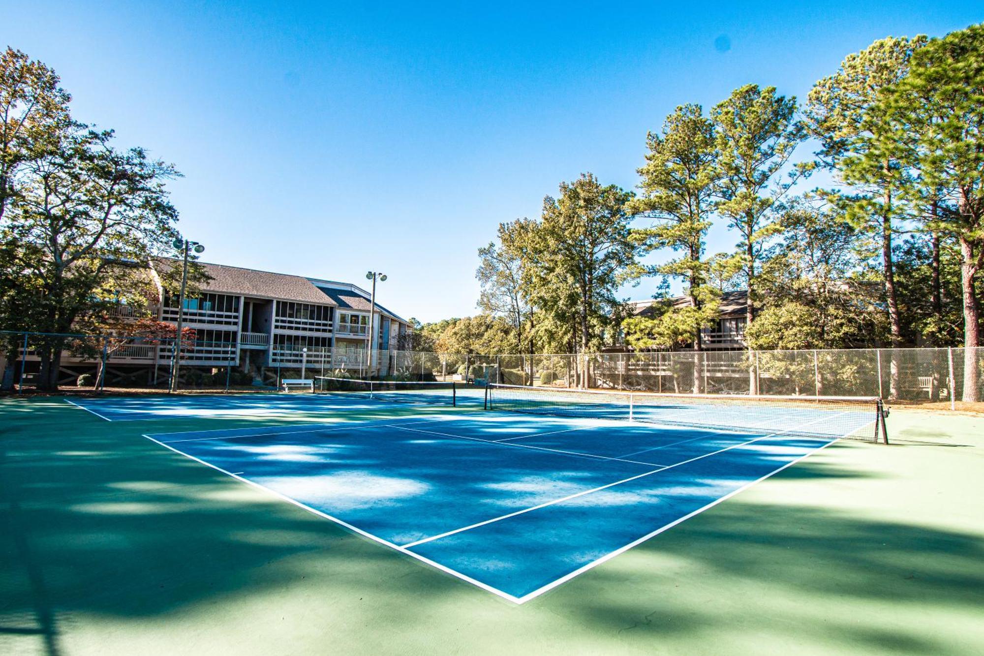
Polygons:
M884 447L831 447L518 607L136 426L44 404L0 422L0 653L957 654L980 637L980 535L928 501L878 516L925 485L898 463L958 477L962 450L891 447L869 471Z

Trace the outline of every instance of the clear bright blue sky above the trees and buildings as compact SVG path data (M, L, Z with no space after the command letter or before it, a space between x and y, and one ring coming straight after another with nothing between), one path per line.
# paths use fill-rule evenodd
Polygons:
M178 166L180 229L206 261L375 269L381 302L427 321L474 313L476 249L562 180L634 187L676 105L747 83L803 98L877 38L982 20L925 0L37 1L0 3L0 44L55 68L77 117ZM735 240L715 228L708 250Z

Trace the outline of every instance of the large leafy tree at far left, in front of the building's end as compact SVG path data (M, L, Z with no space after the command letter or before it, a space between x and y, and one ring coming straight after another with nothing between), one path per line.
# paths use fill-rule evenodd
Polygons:
M70 332L104 304L100 291L166 248L177 220L164 188L174 167L72 120L57 85L23 53L0 57L0 307L4 323L16 316L20 329L47 333ZM30 309L7 313L15 308ZM56 386L63 347L39 341L42 388Z

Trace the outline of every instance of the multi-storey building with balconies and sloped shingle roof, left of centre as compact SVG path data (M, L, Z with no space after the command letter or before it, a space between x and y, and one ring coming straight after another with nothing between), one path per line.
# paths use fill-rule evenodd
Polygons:
M184 299L183 324L194 329L195 341L182 349L182 377L195 375L189 371L230 366L257 384L275 383L281 373L302 366L308 377L334 369L387 375L393 368L390 353L405 343L411 330L406 319L377 303L370 334L370 294L351 283L199 264L208 280ZM159 298L149 308L151 317L176 325L178 295L160 283L162 269L173 266L171 260L156 261L147 273ZM125 304L115 312L124 318L136 315ZM164 384L172 358L169 344L133 340L108 353L107 384ZM25 360L29 373L36 369L37 358L30 350ZM92 372L98 360L92 354L66 351L63 382Z

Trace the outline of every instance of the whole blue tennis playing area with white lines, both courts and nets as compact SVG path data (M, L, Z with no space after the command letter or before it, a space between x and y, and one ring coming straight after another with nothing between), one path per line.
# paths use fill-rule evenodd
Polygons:
M454 390L450 399L437 388L420 396L397 385L348 386L315 396L182 399L171 412L341 413L393 400L421 412L145 436L523 603L841 436L871 439L878 417L861 401L767 407L720 399L697 408L508 386ZM166 398L140 401L79 405L111 421L169 416ZM461 412L430 412L449 401Z

